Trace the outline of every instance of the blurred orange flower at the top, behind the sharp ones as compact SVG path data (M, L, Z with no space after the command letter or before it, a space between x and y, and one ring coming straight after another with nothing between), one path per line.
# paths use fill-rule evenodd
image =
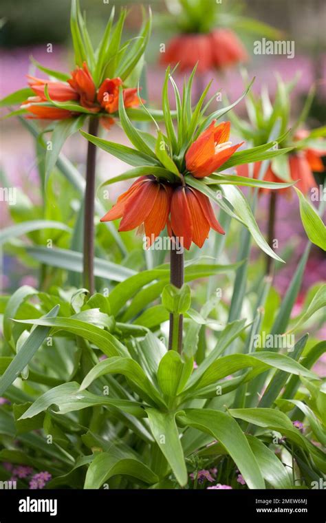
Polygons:
M181 72L193 70L196 63L198 72L214 68L223 69L248 60L248 54L241 41L229 29L217 29L207 34L179 34L169 41L162 53L162 65L179 63Z

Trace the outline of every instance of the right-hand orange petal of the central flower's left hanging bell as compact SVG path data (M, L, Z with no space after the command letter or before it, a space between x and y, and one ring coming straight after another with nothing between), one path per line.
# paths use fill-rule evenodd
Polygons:
M155 238L166 226L166 220L170 213L171 187L160 185L153 209L144 220L147 248L151 246Z

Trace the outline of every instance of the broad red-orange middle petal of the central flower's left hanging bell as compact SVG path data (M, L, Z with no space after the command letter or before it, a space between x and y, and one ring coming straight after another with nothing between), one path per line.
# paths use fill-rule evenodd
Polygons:
M124 207L119 231L131 231L142 224L153 209L160 184L146 180L139 189L128 198Z

